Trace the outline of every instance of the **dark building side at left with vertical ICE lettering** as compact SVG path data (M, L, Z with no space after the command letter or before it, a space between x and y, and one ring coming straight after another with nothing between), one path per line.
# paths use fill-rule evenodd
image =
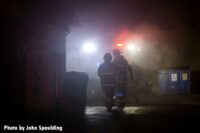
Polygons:
M65 72L65 38L72 24L71 4L62 0L10 0L1 6L1 106L5 111L39 108L34 99L42 103L47 100L42 98L45 95L52 99L58 96ZM42 84L50 80L55 81L52 94L49 86L42 90Z

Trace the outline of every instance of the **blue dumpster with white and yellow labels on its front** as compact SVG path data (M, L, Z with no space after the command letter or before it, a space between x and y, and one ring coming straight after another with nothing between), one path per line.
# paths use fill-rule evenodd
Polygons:
M190 68L163 69L158 73L160 94L189 94Z

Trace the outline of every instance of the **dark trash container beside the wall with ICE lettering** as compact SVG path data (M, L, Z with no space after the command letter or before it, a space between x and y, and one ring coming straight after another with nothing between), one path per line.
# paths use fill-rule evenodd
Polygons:
M60 109L70 113L84 113L87 84L87 73L66 72L61 89Z

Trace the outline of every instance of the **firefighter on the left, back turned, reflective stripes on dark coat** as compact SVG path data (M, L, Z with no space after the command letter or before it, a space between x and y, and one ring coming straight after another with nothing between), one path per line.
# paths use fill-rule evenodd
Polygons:
M112 56L110 53L105 53L103 59L104 63L102 63L98 68L98 76L101 79L101 86L106 97L105 105L107 111L111 111L114 104L113 97L116 88L118 68L111 62Z

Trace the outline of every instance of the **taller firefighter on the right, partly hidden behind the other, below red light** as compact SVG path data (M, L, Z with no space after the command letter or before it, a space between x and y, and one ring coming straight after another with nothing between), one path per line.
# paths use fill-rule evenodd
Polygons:
M126 89L128 84L128 73L130 75L130 79L133 80L133 71L128 61L121 55L121 52L118 49L113 50L114 59L112 61L119 69L118 74L118 83L117 83L117 92L123 93L123 100L120 100L121 103L118 105L121 108L125 106L125 97L126 97Z

